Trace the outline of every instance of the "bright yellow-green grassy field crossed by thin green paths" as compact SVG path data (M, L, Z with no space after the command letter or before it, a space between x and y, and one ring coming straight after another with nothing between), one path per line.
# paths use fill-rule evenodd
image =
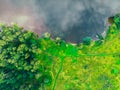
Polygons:
M120 31L115 24L100 45L96 41L79 46L66 42L50 45L46 52L55 58L53 83L47 90L120 90Z

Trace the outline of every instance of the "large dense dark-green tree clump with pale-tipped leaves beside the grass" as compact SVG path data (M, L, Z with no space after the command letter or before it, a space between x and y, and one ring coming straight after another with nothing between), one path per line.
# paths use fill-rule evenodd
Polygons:
M38 90L51 82L42 60L39 38L14 24L1 25L0 90Z

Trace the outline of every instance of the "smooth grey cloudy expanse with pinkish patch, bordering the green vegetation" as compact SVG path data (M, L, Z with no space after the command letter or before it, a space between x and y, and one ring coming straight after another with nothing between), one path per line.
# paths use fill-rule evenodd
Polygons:
M96 39L107 18L120 12L120 0L1 0L0 22L16 22L39 36L45 32L67 42Z

